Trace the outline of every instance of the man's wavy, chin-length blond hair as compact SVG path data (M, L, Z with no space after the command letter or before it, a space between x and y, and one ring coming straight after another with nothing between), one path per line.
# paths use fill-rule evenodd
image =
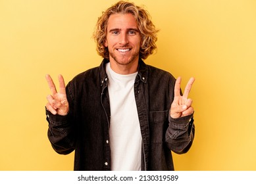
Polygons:
M102 12L102 15L98 18L95 31L93 33L93 38L97 43L97 53L101 57L109 59L109 51L104 45L107 37L107 22L109 20L109 16L116 13L131 13L134 15L142 39L140 58L145 59L149 55L153 54L153 51L157 49L155 42L157 41L158 30L156 30L155 25L151 22L149 12L145 11L142 7L136 6L134 3L126 1L119 1L107 9L107 11Z

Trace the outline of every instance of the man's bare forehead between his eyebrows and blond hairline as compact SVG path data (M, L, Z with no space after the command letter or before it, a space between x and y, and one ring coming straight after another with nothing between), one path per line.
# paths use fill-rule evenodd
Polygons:
M113 28L138 28L136 19L133 14L130 13L116 13L109 16L107 22L107 30Z

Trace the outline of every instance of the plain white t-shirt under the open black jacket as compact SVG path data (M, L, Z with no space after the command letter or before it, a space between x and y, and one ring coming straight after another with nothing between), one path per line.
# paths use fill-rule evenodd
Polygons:
M111 108L111 170L141 170L141 131L134 96L134 80L138 72L116 74L107 63Z

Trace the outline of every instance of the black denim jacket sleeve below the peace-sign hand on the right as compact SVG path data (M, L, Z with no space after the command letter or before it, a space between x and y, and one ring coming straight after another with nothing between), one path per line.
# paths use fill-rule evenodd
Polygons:
M181 118L168 117L169 124L165 133L168 148L177 154L188 152L193 143L195 126L193 114Z

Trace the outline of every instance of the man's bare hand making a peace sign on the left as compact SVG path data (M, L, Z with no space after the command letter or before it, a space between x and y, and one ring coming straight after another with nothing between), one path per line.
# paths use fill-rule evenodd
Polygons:
M52 114L59 114L65 116L68 114L68 99L66 99L66 86L64 83L63 76L59 75L59 93L56 90L55 84L51 79L51 76L47 74L45 76L48 85L51 90L51 95L47 96L48 103L46 104L47 110L49 110Z

